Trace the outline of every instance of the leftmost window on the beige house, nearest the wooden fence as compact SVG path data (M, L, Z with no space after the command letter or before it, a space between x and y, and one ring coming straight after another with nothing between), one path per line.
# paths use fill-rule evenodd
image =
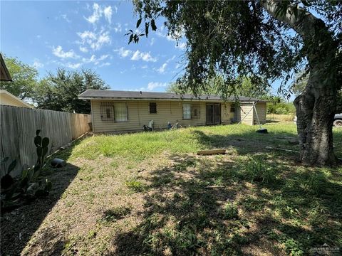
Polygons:
M101 120L104 122L127 122L128 112L125 102L101 102Z

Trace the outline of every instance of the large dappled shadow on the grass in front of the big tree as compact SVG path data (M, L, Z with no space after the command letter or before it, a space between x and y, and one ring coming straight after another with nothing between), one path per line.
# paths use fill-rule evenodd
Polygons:
M113 255L307 255L323 243L341 247L341 170L296 170L279 156L258 157L276 167L271 182L251 182L244 162L172 156L172 166L145 178L142 221L113 238Z

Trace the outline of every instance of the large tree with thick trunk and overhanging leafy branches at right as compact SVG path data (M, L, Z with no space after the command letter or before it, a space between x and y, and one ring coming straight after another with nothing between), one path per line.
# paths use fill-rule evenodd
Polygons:
M182 81L196 90L202 82L220 73L221 94L239 75L259 75L269 82L286 84L302 65L309 80L294 104L301 161L310 165L333 165L333 114L342 63L341 1L149 1L136 0L140 16L128 33L138 43L155 19L165 18L165 27L176 40L187 38L187 66ZM323 20L314 16L320 14ZM340 24L340 25L339 25Z

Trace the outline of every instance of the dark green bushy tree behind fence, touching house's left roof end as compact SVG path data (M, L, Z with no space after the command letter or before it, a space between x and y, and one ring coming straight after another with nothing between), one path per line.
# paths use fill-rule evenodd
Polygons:
M78 100L85 90L106 90L108 86L92 70L67 71L58 68L38 83L33 100L39 108L76 113L90 113L90 103Z

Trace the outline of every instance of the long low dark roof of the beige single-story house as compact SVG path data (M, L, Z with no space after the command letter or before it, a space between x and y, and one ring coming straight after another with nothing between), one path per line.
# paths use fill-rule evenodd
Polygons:
M86 90L78 95L81 100L201 100L201 101L222 101L218 95L177 95L172 92L131 92L119 90ZM252 97L239 96L228 97L228 101L239 100L241 102L266 102Z

